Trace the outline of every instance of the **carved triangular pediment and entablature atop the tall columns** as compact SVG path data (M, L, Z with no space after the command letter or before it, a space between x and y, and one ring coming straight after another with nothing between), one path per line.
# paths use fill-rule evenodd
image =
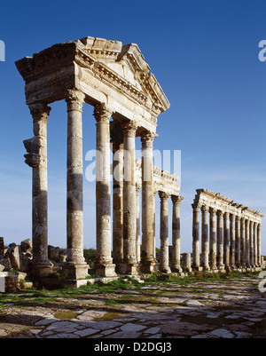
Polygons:
M66 99L82 91L90 105L105 102L113 115L156 131L157 116L169 107L137 44L98 37L55 44L16 62L26 82L27 105Z

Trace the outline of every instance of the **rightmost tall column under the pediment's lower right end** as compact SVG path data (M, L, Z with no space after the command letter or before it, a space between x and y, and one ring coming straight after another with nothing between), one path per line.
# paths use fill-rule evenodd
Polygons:
M144 273L153 272L154 249L154 188L153 188L153 139L156 134L145 131L142 142L142 258Z

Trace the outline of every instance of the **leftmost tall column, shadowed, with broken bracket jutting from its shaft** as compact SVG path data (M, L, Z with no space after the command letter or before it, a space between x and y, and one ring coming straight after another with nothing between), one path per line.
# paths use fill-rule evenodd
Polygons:
M31 273L36 277L51 273L48 259L47 222L47 118L51 107L43 103L29 106L33 116L34 138L24 141L25 162L32 167L32 243Z

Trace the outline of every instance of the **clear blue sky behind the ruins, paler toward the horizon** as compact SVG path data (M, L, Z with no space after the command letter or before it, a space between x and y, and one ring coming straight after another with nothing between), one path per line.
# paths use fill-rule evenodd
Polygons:
M3 3L0 235L6 243L31 237L31 169L24 163L22 141L33 136L32 119L14 62L84 36L137 44L168 97L171 107L159 116L154 148L182 152L182 252L192 251L191 204L197 188L219 192L266 215L266 62L258 59L258 44L266 40L264 0ZM66 103L57 102L51 108L49 243L64 247ZM87 105L83 110L84 156L95 148L95 133L92 107ZM87 165L84 161L84 168ZM159 208L156 200L157 246ZM262 253L266 255L264 220ZM95 247L94 183L86 179L84 245Z

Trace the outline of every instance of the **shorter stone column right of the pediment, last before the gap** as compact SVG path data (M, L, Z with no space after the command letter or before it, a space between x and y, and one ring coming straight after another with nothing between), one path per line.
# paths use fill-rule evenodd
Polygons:
M184 196L171 195L173 203L173 216L172 216L172 272L182 272L180 264L180 202Z

